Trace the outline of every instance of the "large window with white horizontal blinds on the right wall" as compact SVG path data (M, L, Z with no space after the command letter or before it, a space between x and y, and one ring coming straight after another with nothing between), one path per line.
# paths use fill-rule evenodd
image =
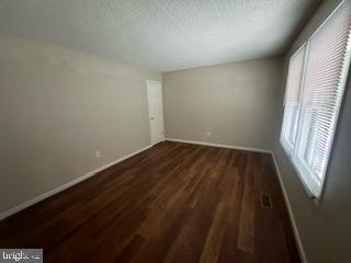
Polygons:
M350 33L351 3L344 1L290 59L281 144L316 199L350 66Z

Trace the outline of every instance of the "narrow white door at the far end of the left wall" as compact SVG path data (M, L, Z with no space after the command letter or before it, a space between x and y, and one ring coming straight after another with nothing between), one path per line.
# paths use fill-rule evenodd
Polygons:
M156 145L165 140L162 85L159 81L147 80L150 140Z

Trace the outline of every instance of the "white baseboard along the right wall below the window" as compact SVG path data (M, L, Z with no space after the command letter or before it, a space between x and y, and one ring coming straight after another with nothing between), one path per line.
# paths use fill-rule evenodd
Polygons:
M283 192L283 197L284 197L284 201L285 201L285 205L287 207L290 221L293 225L293 232L294 232L294 236L295 236L295 240L297 242L297 249L298 249L299 258L301 258L303 263L307 263L306 253L305 253L303 243L302 243L301 238L299 238L299 233L298 233L297 226L296 226L296 222L295 222L295 217L294 217L292 207L290 205L290 201L288 201L288 197L287 197L287 194L286 194L286 190L285 190L285 186L284 186L284 183L283 183L283 180L282 180L282 174L280 172L280 169L279 169L274 152L272 151L271 153L272 153L275 171L276 171L276 174L278 174L278 179L279 179L279 182L280 182L280 185L281 185L281 188L282 188L282 192Z

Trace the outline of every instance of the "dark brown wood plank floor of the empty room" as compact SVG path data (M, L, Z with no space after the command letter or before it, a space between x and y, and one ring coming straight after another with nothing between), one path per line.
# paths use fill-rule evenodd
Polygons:
M44 262L299 262L270 155L170 141L2 220L0 248L44 248Z

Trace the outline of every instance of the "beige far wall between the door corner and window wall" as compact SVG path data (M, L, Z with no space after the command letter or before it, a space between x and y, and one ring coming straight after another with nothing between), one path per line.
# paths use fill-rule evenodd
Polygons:
M282 62L274 57L163 73L166 137L272 149Z

